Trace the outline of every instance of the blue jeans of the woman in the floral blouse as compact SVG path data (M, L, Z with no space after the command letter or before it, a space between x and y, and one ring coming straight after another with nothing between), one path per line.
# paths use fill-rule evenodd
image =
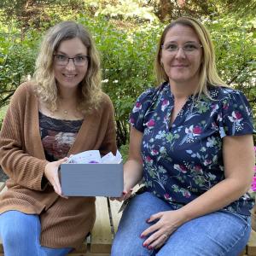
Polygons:
M246 246L251 218L221 210L190 220L180 226L159 250L143 247L140 238L150 224L146 219L156 212L172 211L171 204L144 192L134 197L119 223L112 256L236 256Z

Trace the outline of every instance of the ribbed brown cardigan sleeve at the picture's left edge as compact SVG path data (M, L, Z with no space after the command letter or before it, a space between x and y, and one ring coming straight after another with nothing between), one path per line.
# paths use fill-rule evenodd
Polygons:
M28 84L21 84L12 96L3 120L0 132L0 165L15 183L27 189L42 190L44 167L48 161L26 152L23 130L28 101ZM33 137L29 139L33 143Z

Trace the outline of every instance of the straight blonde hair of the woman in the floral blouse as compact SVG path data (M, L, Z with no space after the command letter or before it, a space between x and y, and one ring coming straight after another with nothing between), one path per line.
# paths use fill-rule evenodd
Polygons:
M201 96L201 94L209 96L207 91L207 85L209 84L213 86L227 86L218 76L215 63L215 52L212 39L207 31L207 28L203 26L199 20L195 20L194 18L190 17L180 17L177 18L177 20L173 20L162 32L154 60L154 72L156 74L158 84L169 81L169 78L160 63L161 50L166 39L166 33L176 25L191 27L195 31L202 45L203 55L199 73L199 84L194 95L198 93L199 96Z

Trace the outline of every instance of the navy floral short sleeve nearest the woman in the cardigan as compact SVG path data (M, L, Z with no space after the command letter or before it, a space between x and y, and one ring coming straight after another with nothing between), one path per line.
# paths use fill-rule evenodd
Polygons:
M154 91L154 88L144 91L143 94L137 98L137 102L131 110L129 122L138 131L144 131L144 117L149 106L152 104Z

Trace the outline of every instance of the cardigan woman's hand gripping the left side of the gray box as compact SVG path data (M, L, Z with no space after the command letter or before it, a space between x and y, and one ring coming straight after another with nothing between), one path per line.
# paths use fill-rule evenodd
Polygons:
M49 162L44 168L44 176L47 177L49 183L52 184L53 188L55 189L55 193L61 195L61 183L59 179L59 166L67 161L67 157L57 160L54 162ZM61 195L64 198L66 196Z

